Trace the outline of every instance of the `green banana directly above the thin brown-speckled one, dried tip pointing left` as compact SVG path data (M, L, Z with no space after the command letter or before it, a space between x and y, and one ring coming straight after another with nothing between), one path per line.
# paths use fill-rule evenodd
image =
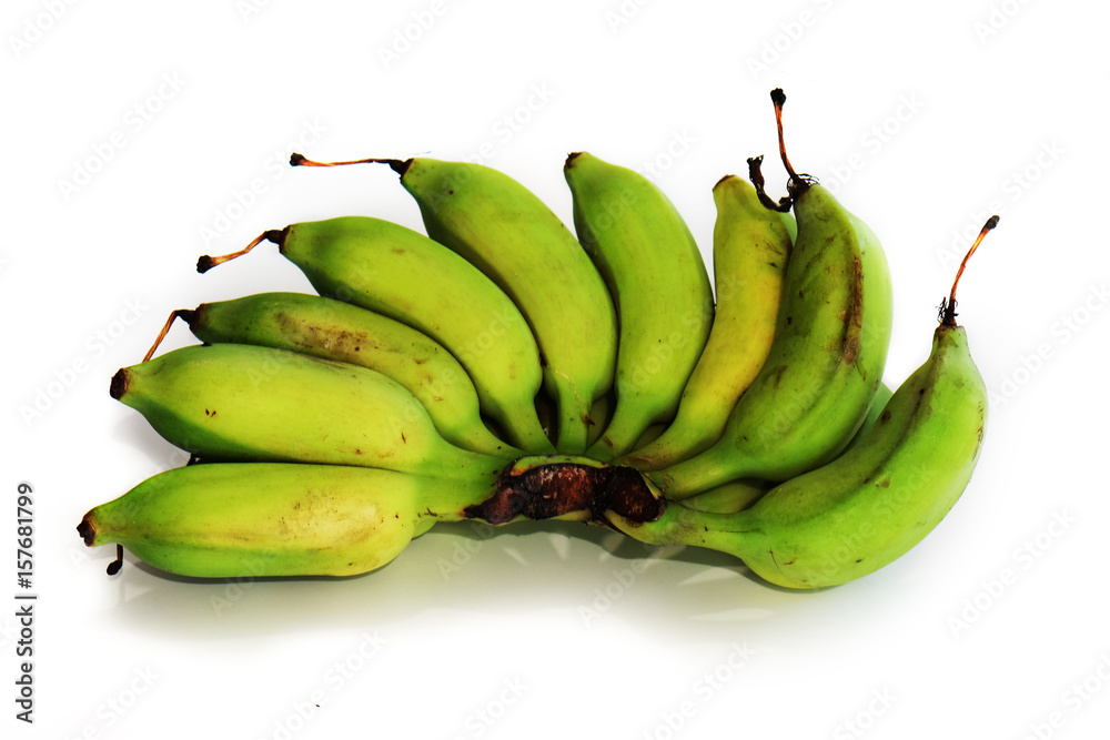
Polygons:
M466 260L398 224L343 216L268 231L240 252L201 257L198 270L262 240L276 243L321 295L390 316L442 344L466 368L483 410L513 445L554 450L533 406L543 372L532 330L509 297Z

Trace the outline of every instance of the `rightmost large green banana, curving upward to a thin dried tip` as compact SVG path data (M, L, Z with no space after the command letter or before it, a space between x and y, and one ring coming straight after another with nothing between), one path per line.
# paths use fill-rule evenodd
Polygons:
M859 443L737 514L668 506L656 521L610 523L647 543L730 553L787 588L845 584L892 562L956 504L978 462L987 389L963 327L941 325L928 361Z

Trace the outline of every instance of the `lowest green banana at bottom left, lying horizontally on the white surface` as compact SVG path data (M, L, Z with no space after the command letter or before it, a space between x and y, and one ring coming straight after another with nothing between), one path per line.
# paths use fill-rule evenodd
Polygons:
M90 547L114 543L181 576L351 576L386 565L436 520L461 519L494 479L342 465L191 465L91 509L78 531Z

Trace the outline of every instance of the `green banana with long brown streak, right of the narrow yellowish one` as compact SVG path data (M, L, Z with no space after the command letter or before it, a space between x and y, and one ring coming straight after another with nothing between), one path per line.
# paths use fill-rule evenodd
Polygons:
M798 239L770 354L717 443L648 474L670 499L737 478L788 480L828 463L881 383L892 314L882 249L819 184L794 206Z

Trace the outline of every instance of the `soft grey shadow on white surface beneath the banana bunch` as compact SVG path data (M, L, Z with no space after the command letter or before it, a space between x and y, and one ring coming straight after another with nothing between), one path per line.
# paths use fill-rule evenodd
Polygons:
M777 621L781 610L809 612L823 600L770 586L713 550L649 547L568 521L495 531L472 524L437 525L385 567L349 577L188 578L129 554L115 577L114 610L138 632L178 638L385 630L418 616L464 626L474 616L538 609L564 612L575 630L614 619L666 635L695 622L692 637L714 641L745 637L744 625ZM110 561L103 549L91 567Z

